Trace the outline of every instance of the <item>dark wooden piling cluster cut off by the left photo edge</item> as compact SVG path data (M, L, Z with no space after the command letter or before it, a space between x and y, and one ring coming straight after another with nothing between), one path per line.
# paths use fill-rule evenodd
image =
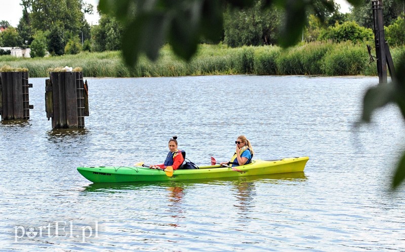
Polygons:
M2 120L29 119L28 71L0 72L0 115Z

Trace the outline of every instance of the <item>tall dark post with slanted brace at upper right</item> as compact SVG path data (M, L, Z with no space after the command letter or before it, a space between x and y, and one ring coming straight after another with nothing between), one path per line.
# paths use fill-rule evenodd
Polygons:
M377 72L379 83L387 83L387 64L391 78L395 78L394 63L384 34L383 2L372 0L374 19L374 40L376 45Z

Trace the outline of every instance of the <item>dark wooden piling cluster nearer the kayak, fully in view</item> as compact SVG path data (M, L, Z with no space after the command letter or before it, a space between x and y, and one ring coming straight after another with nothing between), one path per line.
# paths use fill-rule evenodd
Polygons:
M87 80L81 71L50 72L45 81L45 108L52 128L83 128L89 116Z

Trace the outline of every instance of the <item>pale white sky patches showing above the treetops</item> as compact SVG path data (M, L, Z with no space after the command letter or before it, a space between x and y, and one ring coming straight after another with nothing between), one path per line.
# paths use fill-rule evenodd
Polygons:
M97 14L97 4L99 0L85 0L84 2L94 6L94 14L86 15L87 22L90 25L98 24L99 16ZM0 21L6 20L11 26L17 27L22 16L22 6L20 0L0 0ZM350 4L346 0L335 0L340 5L342 13L349 12Z

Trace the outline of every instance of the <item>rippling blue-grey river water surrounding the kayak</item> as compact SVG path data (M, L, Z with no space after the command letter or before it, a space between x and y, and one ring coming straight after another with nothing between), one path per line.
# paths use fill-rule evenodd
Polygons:
M45 78L31 118L0 124L0 250L405 250L405 193L389 191L405 145L395 106L355 127L377 77L88 78L90 116L52 130ZM82 165L160 163L168 141L197 164L310 157L304 173L92 184Z

